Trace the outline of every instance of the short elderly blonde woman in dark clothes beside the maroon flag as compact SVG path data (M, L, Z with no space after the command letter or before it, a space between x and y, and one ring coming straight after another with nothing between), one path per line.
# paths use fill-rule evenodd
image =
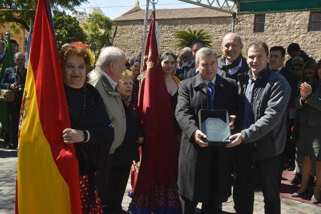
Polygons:
M126 116L126 133L123 142L115 150L107 184L108 213L129 213L122 209L121 202L126 190L131 164L139 161L138 145L144 141L138 118L138 107L132 102L132 72L124 71L118 80L118 92Z

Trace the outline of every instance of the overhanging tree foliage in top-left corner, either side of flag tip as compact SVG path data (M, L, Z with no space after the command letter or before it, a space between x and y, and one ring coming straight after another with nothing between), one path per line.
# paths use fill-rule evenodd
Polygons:
M58 11L58 8L75 11L76 7L85 2L87 0L50 0L51 9L54 12ZM19 24L20 27L29 31L30 22L35 21L36 8L36 0L1 0L0 9L5 11L0 11L0 27L5 22L10 22L13 23L13 30L15 25Z

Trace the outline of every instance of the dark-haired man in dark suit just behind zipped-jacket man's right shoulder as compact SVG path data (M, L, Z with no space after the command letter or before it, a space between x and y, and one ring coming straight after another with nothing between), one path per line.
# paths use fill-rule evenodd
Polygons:
M270 49L270 59L269 66L271 71L277 72L281 74L288 84L291 87L291 97L288 103L287 110L287 135L286 135L286 144L281 155L280 162L280 182L282 177L282 171L285 162L289 162L289 164L294 166L294 158L295 158L295 144L291 142L291 127L293 126L294 117L295 117L295 108L294 108L294 98L297 90L297 79L294 73L290 72L286 68L283 67L283 63L285 61L285 49L282 46L274 46Z

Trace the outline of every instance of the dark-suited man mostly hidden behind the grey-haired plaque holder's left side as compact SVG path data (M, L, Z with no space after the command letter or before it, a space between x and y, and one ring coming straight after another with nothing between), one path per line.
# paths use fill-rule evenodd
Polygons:
M194 59L184 63L180 69L175 71L174 75L180 78L180 80L186 80L194 77L197 74L197 68L195 66L196 52L204 47L206 47L206 45L203 40L194 40L191 45Z

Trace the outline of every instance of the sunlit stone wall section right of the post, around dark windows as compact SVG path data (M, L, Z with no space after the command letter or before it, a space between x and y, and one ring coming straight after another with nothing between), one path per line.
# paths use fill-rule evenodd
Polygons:
M253 33L254 15L238 16L235 33L243 40L264 40L269 47L298 43L301 50L315 60L321 59L321 32L308 32L309 12L278 13L265 15L264 33ZM288 56L286 56L288 57Z

